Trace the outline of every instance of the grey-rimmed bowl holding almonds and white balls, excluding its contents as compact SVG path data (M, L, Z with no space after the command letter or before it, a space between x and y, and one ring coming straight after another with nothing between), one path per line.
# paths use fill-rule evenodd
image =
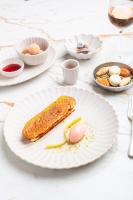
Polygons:
M133 86L133 82L129 83L129 84L126 85L126 86L111 87L111 86L104 86L104 85L102 85L102 84L100 84L100 83L98 83L98 82L96 81L96 72L97 72L101 67L114 66L114 65L115 65L115 66L119 66L119 67L125 67L125 68L129 69L129 70L132 72L132 74L133 74L133 68L130 67L129 65L124 64L124 63L119 63L119 62L108 62L108 63L103 63L103 64L99 65L98 67L96 67L95 70L94 70L94 72L93 72L93 77L94 77L95 83L96 83L99 87L101 87L101 88L103 88L103 89L105 89L105 90L108 90L108 91L112 91L112 92L122 92L122 91L128 90L129 88L131 88L131 87Z

